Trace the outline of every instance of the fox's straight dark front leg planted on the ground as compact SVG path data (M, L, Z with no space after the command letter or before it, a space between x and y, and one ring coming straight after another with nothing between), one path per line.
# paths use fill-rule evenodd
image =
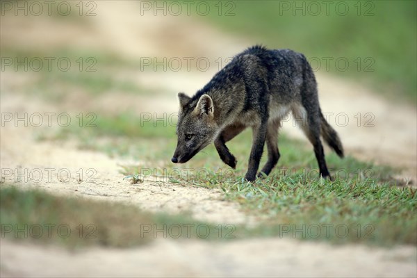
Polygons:
M265 145L267 122L268 120L265 120L262 121L261 124L259 124L259 126L252 127L252 149L250 151L249 165L247 167L247 172L245 175L245 179L247 181L254 181L256 179L256 172L258 172L259 162L261 161L263 145Z

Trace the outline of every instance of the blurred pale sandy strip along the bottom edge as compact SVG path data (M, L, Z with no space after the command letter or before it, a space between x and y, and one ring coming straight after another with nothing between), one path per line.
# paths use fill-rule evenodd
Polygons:
M158 239L128 250L68 252L2 240L0 272L1 277L416 277L416 250L268 238Z

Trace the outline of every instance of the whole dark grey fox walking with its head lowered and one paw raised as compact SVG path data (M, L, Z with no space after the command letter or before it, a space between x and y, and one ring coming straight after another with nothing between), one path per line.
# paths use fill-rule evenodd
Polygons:
M341 140L320 110L313 70L305 56L295 51L250 47L193 97L180 92L178 98L178 142L173 163L186 163L214 142L222 161L235 168L236 158L225 143L250 126L253 142L245 179L256 179L265 141L268 161L258 176L268 175L280 156L277 142L281 119L290 111L314 147L322 177L330 179L320 136L343 157Z

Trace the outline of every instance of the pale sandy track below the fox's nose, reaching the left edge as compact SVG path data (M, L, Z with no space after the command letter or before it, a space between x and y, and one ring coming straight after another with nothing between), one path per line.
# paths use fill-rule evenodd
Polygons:
M29 115L60 113L54 106L35 99L29 103L21 97L2 96L3 113L17 110ZM33 126L15 127L14 124L1 129L3 181L21 188L36 186L58 195L129 202L149 211L189 211L204 221L244 223L248 220L239 211L238 204L224 202L220 190L156 183L151 177L150 181L145 179L143 183L132 185L121 174L122 166L138 165L140 161L122 161L98 152L79 150L71 142L64 145L37 142L33 138L36 130ZM9 174L9 170L13 174ZM17 181L19 174L20 181Z

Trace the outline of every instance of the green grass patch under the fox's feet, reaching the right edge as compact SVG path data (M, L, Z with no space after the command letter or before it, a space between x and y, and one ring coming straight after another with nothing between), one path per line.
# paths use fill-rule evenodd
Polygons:
M238 202L247 214L266 219L254 229L240 230L238 235L289 236L337 244L417 243L415 188L397 186L393 179L386 181L382 169L370 177L360 172L334 182L303 170L275 171L254 183L243 180L244 171L214 172L208 166L152 170L132 166L126 167L124 173L138 186L147 180L220 188L227 200Z

